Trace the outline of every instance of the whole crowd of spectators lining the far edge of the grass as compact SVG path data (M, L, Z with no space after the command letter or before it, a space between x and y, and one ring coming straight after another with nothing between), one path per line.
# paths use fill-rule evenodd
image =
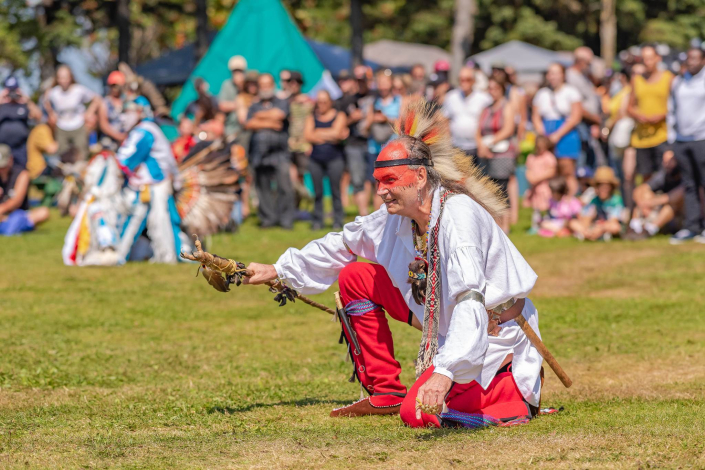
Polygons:
M638 240L663 232L674 244L705 242L704 53L692 48L680 69L669 70L658 51L645 45L621 69L600 73L592 51L580 47L572 65L551 64L540 84L518 83L516 71L501 63L486 74L469 62L454 77L456 87L443 61L430 73L420 64L409 74L361 65L336 77L337 100L324 90L303 93L308 87L297 70L282 70L277 84L234 56L217 96L204 80L194 81L197 97L178 122L172 150L180 160L199 140L237 142L233 165L243 174L237 222L252 204L261 227L290 229L305 219L319 230L327 192L330 226L339 229L351 202L360 215L381 205L374 160L394 138L391 124L401 108L424 98L442 109L453 144L506 196L509 210L497 220L505 232L517 223L523 196L532 210L530 233L539 236ZM117 148L130 127L124 119L130 93L119 71L108 76L101 97L60 66L37 105L9 77L0 93L0 143L10 154L3 168L11 162L0 172L0 218L8 218L7 207L26 211L24 199L9 194L27 190L8 188L8 181L41 178L51 170L44 157L85 159L91 134ZM528 184L523 195L520 163Z

